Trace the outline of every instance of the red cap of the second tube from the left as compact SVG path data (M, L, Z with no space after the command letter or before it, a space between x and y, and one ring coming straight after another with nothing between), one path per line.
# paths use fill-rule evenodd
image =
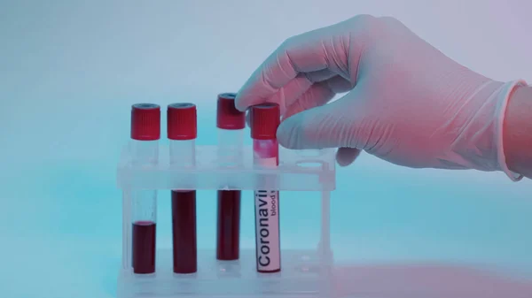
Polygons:
M167 131L170 140L196 139L198 135L196 105L194 103L168 104Z

